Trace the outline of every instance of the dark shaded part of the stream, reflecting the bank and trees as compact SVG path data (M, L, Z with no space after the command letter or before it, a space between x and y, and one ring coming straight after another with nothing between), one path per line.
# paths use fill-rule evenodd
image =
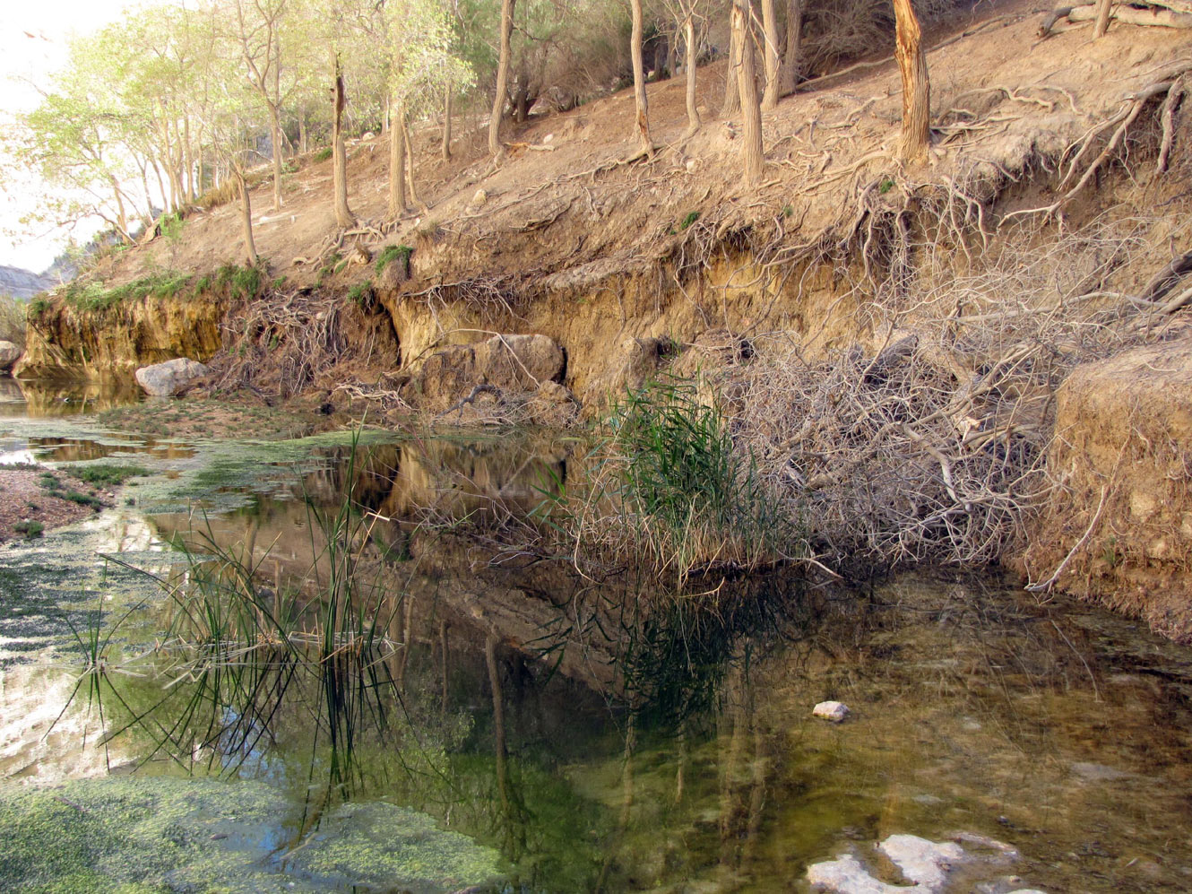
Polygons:
M1023 855L957 889L1188 887L1187 648L994 576L591 581L501 536L566 482L532 447L335 449L288 493L156 517L191 553L92 663L107 746L284 794L268 859L299 881L385 801L497 849L504 890L800 890L957 831ZM850 719L811 718L826 699Z

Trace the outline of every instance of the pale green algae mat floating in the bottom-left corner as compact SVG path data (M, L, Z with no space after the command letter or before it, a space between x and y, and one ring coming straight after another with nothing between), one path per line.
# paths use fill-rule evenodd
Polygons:
M250 781L0 789L0 889L430 894L498 877L496 851L395 805L343 805L294 845L300 821L300 805Z

